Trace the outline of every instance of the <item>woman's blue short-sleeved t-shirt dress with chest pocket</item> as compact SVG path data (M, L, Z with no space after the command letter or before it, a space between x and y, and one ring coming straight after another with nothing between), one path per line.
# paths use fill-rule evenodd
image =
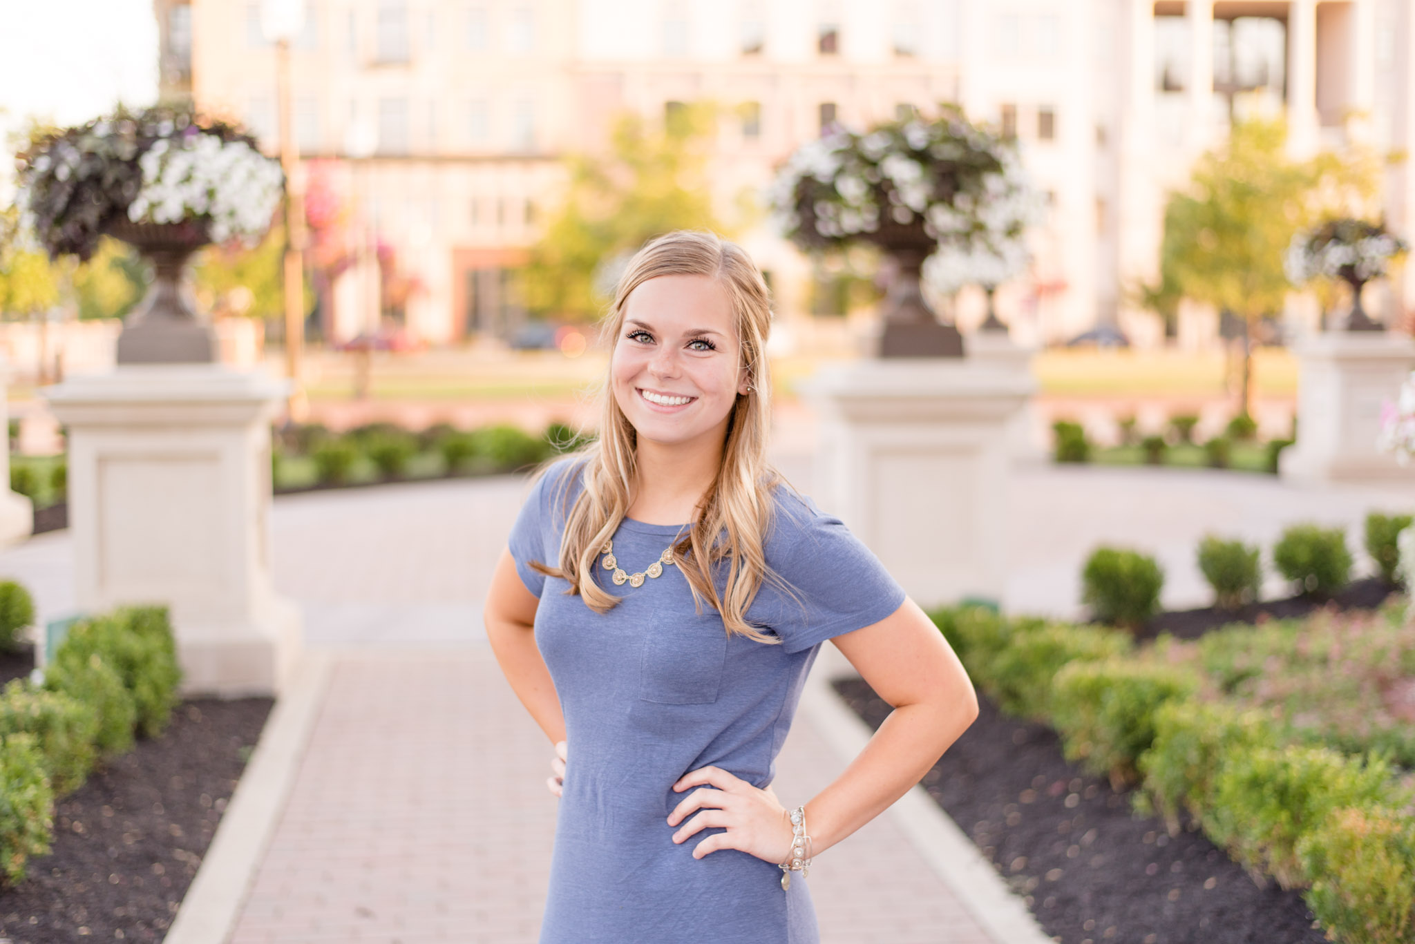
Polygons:
M795 599L764 582L747 611L780 645L729 637L710 604L695 613L676 566L616 587L601 556L596 579L621 601L596 613L565 593L567 582L528 566L559 563L582 468L579 457L556 463L509 539L516 572L541 600L535 640L566 727L541 944L816 944L799 872L782 890L781 869L746 852L693 859L698 842L726 832L717 827L672 841L668 814L691 793L672 785L712 764L766 788L821 643L890 616L904 590L838 518L780 485L766 558ZM630 573L644 570L681 531L625 519L614 556ZM808 800L781 797L788 808Z

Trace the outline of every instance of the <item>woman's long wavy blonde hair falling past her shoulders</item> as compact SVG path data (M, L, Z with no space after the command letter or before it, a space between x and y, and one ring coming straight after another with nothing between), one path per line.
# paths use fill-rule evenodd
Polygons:
M649 279L668 275L710 276L722 283L732 303L741 365L750 385L732 406L722 464L696 505L695 526L674 545L674 563L688 579L698 611L708 600L722 614L729 635L739 633L758 643L780 643L746 620L747 607L763 582L781 585L767 568L763 549L774 519L771 494L777 484L784 484L766 456L771 422L771 376L766 357L771 297L757 266L740 246L710 232L671 232L640 249L620 276L614 304L601 323L601 340L611 350L624 326L630 293ZM620 597L594 582L594 565L600 548L628 514L637 434L614 401L608 378L599 396L600 436L570 463L572 470L583 470L584 490L566 512L559 566L541 562L531 562L531 566L567 580L566 593L579 593L591 610L608 613ZM562 505L573 477L573 473L566 474L558 483ZM713 576L723 560L727 580L719 594Z

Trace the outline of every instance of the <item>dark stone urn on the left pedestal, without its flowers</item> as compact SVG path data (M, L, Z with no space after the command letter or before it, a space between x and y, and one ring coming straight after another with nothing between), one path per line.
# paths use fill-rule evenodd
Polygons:
M173 224L117 219L108 234L122 239L153 265L153 283L125 318L117 337L119 364L207 364L216 359L211 326L197 317L187 292L187 265L211 242L201 221Z

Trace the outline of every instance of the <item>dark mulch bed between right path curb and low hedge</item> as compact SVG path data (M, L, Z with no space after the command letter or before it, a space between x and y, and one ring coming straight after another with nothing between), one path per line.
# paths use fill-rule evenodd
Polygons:
M862 679L835 689L870 727L890 706ZM981 715L924 787L1063 944L1320 944L1296 892L1259 889L1200 832L1170 838L1131 793L1082 774L1056 732Z

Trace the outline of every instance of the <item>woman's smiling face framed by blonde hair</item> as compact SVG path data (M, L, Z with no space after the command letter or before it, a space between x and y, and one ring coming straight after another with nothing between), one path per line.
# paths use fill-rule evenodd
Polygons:
M727 292L717 279L658 276L624 301L610 359L614 402L641 440L664 446L722 442L747 392Z

